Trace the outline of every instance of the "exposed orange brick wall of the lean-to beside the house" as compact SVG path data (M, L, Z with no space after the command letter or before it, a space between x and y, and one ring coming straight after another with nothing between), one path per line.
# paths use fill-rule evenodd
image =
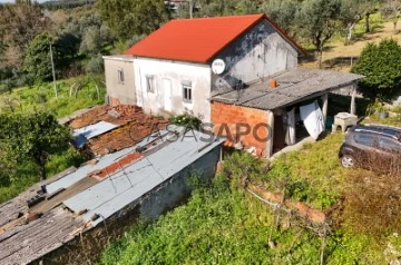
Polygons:
M266 138L268 135L266 127L267 111L221 102L212 102L212 124L214 125L213 129L215 134L219 134L228 138L229 135L227 135L226 128L229 129L232 140L227 141L228 146L239 141L246 148L255 147L257 156L264 157L266 155L266 141L262 141L257 138ZM238 124L250 125L251 132L244 135L245 128L239 127ZM260 124L264 126L257 126Z

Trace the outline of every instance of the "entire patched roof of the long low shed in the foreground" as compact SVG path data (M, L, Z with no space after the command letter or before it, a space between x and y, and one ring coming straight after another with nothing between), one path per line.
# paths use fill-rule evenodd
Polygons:
M189 165L224 141L219 137L202 141L200 137L211 136L198 131L172 140L185 136L184 131L183 127L169 126L168 131L149 135L136 146L106 155L97 163L70 168L1 204L0 264L28 264L59 248L169 181L176 173L189 173ZM28 208L26 200L38 190L45 192L46 199ZM30 219L31 215L35 218ZM94 215L100 218L92 219Z

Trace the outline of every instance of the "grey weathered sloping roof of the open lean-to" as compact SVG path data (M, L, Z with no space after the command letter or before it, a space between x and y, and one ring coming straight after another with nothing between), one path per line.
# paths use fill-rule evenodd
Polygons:
M295 68L271 78L277 81L276 88L270 88L268 81L263 81L239 91L231 90L216 95L212 100L272 110L297 102L315 94L351 85L362 78L363 76L349 72Z

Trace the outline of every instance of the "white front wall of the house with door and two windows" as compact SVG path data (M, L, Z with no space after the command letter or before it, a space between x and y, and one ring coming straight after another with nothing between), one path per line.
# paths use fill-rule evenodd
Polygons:
M211 67L207 65L176 62L148 58L135 59L137 106L151 115L178 115L190 111L211 121ZM151 77L154 91L148 91ZM183 100L183 86L192 87L192 102Z

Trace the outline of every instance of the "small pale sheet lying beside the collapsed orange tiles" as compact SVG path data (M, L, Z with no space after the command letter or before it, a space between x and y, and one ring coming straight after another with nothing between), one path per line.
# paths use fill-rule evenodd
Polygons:
M74 130L74 143L78 148L81 148L89 139L118 128L119 125L114 125L107 121L99 121L95 125L89 125Z

